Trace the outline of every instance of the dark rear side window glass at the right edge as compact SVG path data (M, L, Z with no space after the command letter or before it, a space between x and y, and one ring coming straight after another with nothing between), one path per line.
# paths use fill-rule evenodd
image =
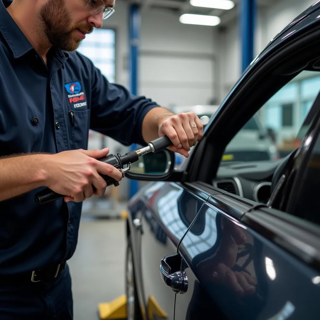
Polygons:
M300 182L300 193L295 199L293 214L308 221L320 224L319 211L319 181L320 181L320 135L313 147L304 176Z

